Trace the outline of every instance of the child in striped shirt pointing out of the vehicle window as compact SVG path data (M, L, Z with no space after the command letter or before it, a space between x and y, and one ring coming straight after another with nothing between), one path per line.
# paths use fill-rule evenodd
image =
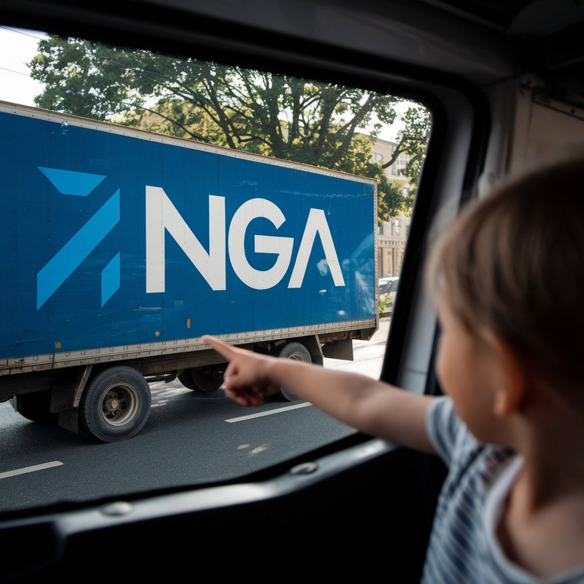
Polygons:
M443 397L252 353L225 394L281 386L367 434L449 467L427 584L584 582L584 162L540 170L467 206L434 246Z

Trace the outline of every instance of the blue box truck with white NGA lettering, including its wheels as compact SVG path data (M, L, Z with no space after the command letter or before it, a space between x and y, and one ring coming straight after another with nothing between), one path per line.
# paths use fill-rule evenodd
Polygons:
M201 340L321 365L379 325L376 180L0 102L0 402L98 442ZM279 397L296 396L281 388Z

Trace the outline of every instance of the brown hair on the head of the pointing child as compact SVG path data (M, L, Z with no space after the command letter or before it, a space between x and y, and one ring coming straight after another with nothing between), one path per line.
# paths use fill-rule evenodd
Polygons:
M427 281L471 335L495 333L524 373L584 407L584 161L470 204L437 242Z

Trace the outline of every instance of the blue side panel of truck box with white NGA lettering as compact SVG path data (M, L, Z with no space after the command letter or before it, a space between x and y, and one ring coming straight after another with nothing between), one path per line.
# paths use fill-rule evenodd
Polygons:
M0 111L0 358L375 321L371 180L31 111Z

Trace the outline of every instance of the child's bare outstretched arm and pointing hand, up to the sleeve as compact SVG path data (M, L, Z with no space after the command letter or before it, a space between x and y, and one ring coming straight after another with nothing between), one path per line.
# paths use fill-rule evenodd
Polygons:
M426 435L426 409L432 397L357 373L279 359L232 346L212 336L204 342L229 361L225 395L241 405L258 405L263 395L286 387L333 418L371 436L434 453Z

